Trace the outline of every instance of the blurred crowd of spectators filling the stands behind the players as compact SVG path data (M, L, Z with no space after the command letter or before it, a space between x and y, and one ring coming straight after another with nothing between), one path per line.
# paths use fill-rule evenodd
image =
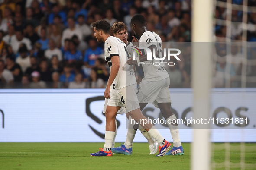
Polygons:
M91 23L122 21L132 41L130 20L137 13L162 42L191 41L191 0L0 0L0 88L104 88L109 67ZM255 14L248 22L256 23ZM225 9L215 16L224 18ZM216 36L225 34L216 25ZM191 87L191 56L182 60L167 68L171 88Z

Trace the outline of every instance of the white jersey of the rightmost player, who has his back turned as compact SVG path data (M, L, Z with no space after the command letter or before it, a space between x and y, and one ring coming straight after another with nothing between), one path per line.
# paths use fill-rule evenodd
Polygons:
M156 46L156 49L159 52L159 58L162 58L162 40L155 32L146 31L141 35L139 39L139 48L140 47L152 47ZM142 51L142 55L146 54L146 50L140 49ZM162 61L155 60L148 60L142 64L144 77L142 81L159 81L162 79L166 79L169 77L167 71L164 68L164 64ZM155 65L153 64L155 63ZM152 64L152 65L151 65Z

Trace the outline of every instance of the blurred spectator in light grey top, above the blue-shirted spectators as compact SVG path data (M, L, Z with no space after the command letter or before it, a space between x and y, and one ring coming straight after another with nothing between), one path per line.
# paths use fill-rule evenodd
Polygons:
M77 35L79 41L82 40L83 34L79 28L75 27L75 18L69 17L68 18L68 28L63 31L62 34L62 46L64 46L64 40L66 38L72 38L73 35Z

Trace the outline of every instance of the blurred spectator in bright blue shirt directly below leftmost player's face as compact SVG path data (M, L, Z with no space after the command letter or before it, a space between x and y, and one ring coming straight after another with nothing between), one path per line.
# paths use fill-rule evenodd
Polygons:
M84 54L84 65L90 68L94 67L95 61L100 54L103 54L103 49L98 47L96 39L91 39L89 41L89 48L86 50Z

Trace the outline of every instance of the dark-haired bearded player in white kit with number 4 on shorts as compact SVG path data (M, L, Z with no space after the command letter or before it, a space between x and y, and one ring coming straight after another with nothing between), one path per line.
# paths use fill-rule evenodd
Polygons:
M105 42L105 60L110 66L110 76L104 92L104 97L109 99L106 109L105 144L103 149L91 153L91 156L112 156L111 147L116 131L115 120L121 107L125 107L126 112L137 122L147 122L141 123L141 126L159 143L159 154L156 156L164 156L171 144L162 137L152 123L147 121L139 109L133 66L126 65L129 58L126 44L119 38L110 36L110 23L106 20L98 20L92 26L97 41ZM112 84L113 88L111 88ZM124 149L128 153L131 152L129 149Z

